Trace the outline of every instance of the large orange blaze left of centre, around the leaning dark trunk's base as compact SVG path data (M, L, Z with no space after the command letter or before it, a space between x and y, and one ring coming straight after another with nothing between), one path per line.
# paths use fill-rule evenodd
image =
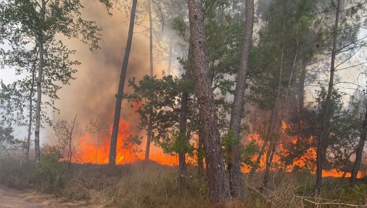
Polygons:
M116 164L127 164L136 160L143 160L144 154L139 145L133 143L133 136L129 130L130 123L120 119L119 134L116 152ZM91 134L86 134L79 138L79 149L72 157L75 163L95 163L107 164L109 159L110 141L112 126L109 134L99 138ZM164 154L157 150L152 152L150 159L164 165L176 165L175 156Z

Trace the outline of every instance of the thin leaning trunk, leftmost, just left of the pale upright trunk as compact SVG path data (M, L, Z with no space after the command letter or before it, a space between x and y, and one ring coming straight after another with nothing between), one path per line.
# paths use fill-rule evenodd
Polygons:
M38 47L38 46L37 46ZM27 144L25 149L25 159L28 164L29 161L29 149L31 147L31 131L32 131L32 113L33 113L33 94L34 94L34 81L35 81L35 73L36 73L36 59L38 57L39 51L37 50L36 58L32 65L32 81L31 81L31 87L29 89L29 114L28 114L28 135L27 135Z

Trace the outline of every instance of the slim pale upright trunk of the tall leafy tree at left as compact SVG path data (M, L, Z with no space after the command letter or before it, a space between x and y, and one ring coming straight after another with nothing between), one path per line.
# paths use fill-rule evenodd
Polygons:
M46 2L45 0L41 0L42 8L41 8L41 19L45 19L46 12ZM41 96L42 96L42 74L43 74L43 35L38 37L38 51L39 51L39 64L38 64L38 78L37 78L37 102L36 102L36 124L34 130L34 149L36 154L36 164L39 164L41 161L41 153L40 153L40 126L41 126Z

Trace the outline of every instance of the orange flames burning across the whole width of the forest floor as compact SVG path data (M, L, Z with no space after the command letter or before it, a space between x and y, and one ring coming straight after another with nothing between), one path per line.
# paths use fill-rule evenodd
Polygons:
M289 128L289 125L283 122L280 136L281 142L279 143L279 145L277 145L276 148L276 153L272 161L272 170L283 170L287 172L303 171L315 173L316 148L312 144L315 144L316 141L314 140L313 136L310 136L306 139L302 139L297 136L290 137L285 133L287 128ZM73 154L71 161L78 164L107 164L109 158L111 132L112 125L109 127L109 131L107 134L98 135L98 137L96 137L91 133L87 133L84 136L81 136L77 145L79 148L77 148L77 151ZM253 133L247 136L247 142L253 142L261 148L264 145L264 139L262 137L264 136L258 133ZM140 140L141 138L132 135L130 131L130 123L121 119L117 142L116 163L129 164L136 161L144 160L145 155L142 149L145 144L141 145ZM196 141L194 141L193 146L197 148L197 138L195 138L195 140ZM302 146L306 146L308 148L304 150L302 154L292 157L292 160L290 162L286 161L284 158L290 157L290 153L289 150L285 148L285 146L297 146L297 144L302 144ZM268 146L265 146L258 164L258 171L263 171L265 169L267 150ZM197 151L194 150L194 154L192 156L186 156L186 163L197 166L196 153ZM251 158L252 163L256 161L258 154ZM158 147L151 147L151 154L149 156L149 159L162 165L178 166L177 155L165 154L162 149ZM244 173L249 173L251 169L251 165L243 163L242 171ZM323 176L325 177L342 177L343 174L343 171L337 169L323 170ZM350 175L350 172L346 172L344 177L350 177ZM367 175L367 172L360 171L357 177L362 178L364 175Z

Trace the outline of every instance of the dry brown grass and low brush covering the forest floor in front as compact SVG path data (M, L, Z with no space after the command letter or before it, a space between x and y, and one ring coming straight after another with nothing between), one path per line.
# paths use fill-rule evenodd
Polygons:
M245 197L228 204L213 205L207 197L206 178L189 174L183 178L181 195L177 190L178 167L155 162L108 165L71 164L58 160L50 150L38 167L33 162L0 159L0 183L10 188L52 193L65 200L82 200L97 207L286 207L341 208L367 204L366 179L355 189L345 179L324 178L321 195L312 197L314 176L307 173L275 172L262 190L262 173L245 175ZM338 189L335 189L336 187Z

